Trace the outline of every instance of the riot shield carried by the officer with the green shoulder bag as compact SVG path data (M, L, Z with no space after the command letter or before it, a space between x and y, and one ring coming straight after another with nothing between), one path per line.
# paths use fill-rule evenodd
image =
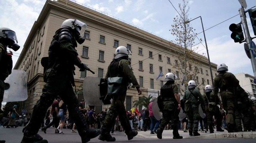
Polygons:
M106 96L107 92L100 91L104 89L100 86L103 78L98 77L86 77L83 82L83 95L85 102L88 105L108 105L111 104L112 99L101 98L102 96ZM103 85L103 84L102 84ZM102 95L101 95L102 94ZM101 99L100 99L101 98Z

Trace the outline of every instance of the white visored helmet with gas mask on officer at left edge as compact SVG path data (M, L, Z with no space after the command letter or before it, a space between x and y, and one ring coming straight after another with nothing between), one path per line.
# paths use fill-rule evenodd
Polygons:
M17 44L18 40L16 37L16 33L10 28L0 27L0 38L10 39L10 42L7 42L8 48L13 49L14 51L18 51L18 49L20 48L20 46Z

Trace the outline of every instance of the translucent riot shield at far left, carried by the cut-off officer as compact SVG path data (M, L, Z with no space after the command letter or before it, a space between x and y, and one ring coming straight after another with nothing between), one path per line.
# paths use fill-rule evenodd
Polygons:
M28 98L27 73L24 70L12 70L4 82L3 102L24 101Z

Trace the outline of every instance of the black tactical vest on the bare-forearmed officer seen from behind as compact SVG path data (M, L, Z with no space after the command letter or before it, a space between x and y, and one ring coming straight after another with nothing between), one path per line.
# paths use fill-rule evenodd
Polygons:
M164 101L175 101L175 96L173 94L173 89L171 87L172 84L165 84L162 86L161 92L162 92Z

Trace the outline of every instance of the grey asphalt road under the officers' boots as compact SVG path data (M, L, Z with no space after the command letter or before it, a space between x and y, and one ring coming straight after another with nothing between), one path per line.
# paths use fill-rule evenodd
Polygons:
M23 127L17 128L2 128L0 127L0 140L5 140L6 143L19 143L23 137L22 133ZM77 130L76 130L77 131ZM43 139L47 139L49 143L81 143L81 138L78 133L72 133L70 129L63 129L64 134L54 134L55 128L51 127L47 129L47 134L44 134L41 130L39 130L38 134L43 137ZM138 131L138 134L141 131ZM148 131L147 131L148 132ZM148 138L138 138L134 137L132 140L128 141L127 137L124 135L124 132L115 132L115 135L112 135L116 138L115 143L121 142L134 142L134 143L150 143L150 142L161 142L161 143L169 143L175 140L175 143L216 143L216 142L225 142L225 143L255 143L255 139L229 139L229 138L220 138L220 139L148 139ZM150 133L150 132L148 132ZM172 130L170 130L170 134L172 134ZM89 143L102 142L98 139L98 137L91 139ZM105 141L106 142L106 141Z

